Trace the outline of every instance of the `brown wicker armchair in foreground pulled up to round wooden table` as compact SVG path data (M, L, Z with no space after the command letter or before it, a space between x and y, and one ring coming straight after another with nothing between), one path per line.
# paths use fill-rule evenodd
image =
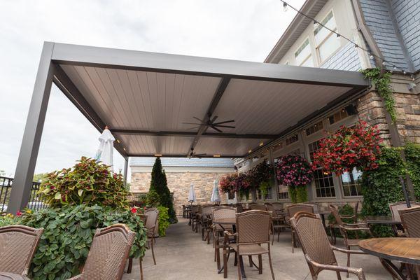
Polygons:
M340 266L334 255L334 250L347 253L348 255L349 253L362 252L332 246L323 228L321 219L315 214L299 212L293 218L290 218L290 224L300 240L304 258L307 260L313 280L318 279L318 274L323 270L337 272L337 279L339 280L341 280L339 272L355 274L359 280L365 280L363 269Z

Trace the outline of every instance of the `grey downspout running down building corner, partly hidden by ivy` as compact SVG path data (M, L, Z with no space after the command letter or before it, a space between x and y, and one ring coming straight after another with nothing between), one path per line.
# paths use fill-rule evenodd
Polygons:
M384 73L386 70L384 69L384 66L382 65L382 62L384 62L384 55L382 55L381 50L379 49L376 41L374 41L372 32L370 31L369 27L367 27L365 22L365 16L363 15L362 7L360 6L360 0L351 0L352 6L353 6L353 12L356 16L358 29L362 33L363 37L365 38L367 45L369 45L370 50L372 51L374 55L374 59L377 65L381 67L381 73ZM382 98L381 98L382 99ZM382 99L382 104L384 104L384 100ZM384 109L385 111L385 118L386 123L389 128L389 134L391 135L391 144L394 147L400 147L402 146L400 135L398 133L398 128L395 123L392 122L391 115L389 112ZM406 162L405 153L403 150L400 151L400 155L403 162ZM408 174L405 175L405 179L407 181L407 190L409 193L409 199L415 200L414 197L414 186L411 178L409 178ZM401 179L402 188L405 188L404 181ZM409 202L408 202L409 204Z

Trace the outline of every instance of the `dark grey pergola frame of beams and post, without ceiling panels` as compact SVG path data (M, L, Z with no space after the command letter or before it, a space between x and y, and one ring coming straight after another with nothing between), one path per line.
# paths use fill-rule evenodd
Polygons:
M119 50L111 48L97 48L84 45L70 45L63 43L45 42L38 66L38 73L31 98L27 123L23 136L18 165L15 172L15 181L10 194L8 211L15 213L27 205L30 194L30 186L38 148L41 141L45 113L48 107L48 99L52 83L68 97L71 102L83 113L87 120L102 132L106 123L98 113L92 109L83 94L73 84L60 65L94 66L111 69L125 69L137 71L154 71L159 73L181 73L188 75L219 77L221 82L214 93L214 97L208 106L204 123L211 118L216 106L220 102L223 92L232 78L246 80L266 80L283 83L297 83L310 85L331 85L337 87L350 87L351 90L327 104L318 111L310 113L300 120L297 125L289 127L280 134L231 134L209 133L207 126L201 125L197 132L168 132L168 131L145 131L145 130L122 130L118 127L111 128L111 132L120 134L137 134L153 136L188 136L193 137L190 151L183 155L169 155L171 157L186 157L191 155L200 137L223 137L239 139L269 139L264 146L269 145L275 139L283 136L288 131L306 122L318 113L328 111L339 102L354 94L363 92L369 87L369 81L363 78L361 73L351 71L339 71L331 69L313 69L309 67L288 66L280 64L265 64L259 62L243 62L228 59L214 59L207 57L190 57L185 55L169 55L155 52L140 52L135 50ZM115 148L125 158L124 173L127 176L128 158L133 156L153 156L153 154L129 154L123 143L116 143ZM264 147L257 147L264 148ZM247 155L221 155L224 158L244 158ZM213 155L211 155L211 158Z

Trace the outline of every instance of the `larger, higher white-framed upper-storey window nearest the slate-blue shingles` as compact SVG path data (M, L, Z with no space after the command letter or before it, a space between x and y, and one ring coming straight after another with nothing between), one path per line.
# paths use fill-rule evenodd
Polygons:
M321 63L323 63L340 47L340 39L334 32L325 28L328 27L333 31L337 31L337 25L332 10L320 23L321 25L316 25L314 29L314 36L316 50L318 51ZM325 25L325 27L322 25Z

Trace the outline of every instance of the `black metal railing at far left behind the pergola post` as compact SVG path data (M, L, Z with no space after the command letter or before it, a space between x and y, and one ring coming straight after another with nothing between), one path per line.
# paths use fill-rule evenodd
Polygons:
M29 195L29 202L27 208L37 211L47 207L43 199L38 195L39 185L41 183L32 182L31 194ZM7 211L8 202L10 200L10 193L13 188L13 178L0 176L0 213Z

